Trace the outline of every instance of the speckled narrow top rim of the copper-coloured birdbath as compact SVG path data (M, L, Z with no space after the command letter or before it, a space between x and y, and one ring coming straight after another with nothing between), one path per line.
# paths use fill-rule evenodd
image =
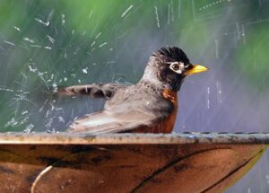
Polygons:
M172 134L30 133L0 134L0 145L269 145L269 133L185 132Z

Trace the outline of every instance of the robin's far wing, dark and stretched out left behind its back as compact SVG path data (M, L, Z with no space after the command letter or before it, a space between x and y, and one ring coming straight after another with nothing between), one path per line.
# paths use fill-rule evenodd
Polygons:
M74 85L65 88L57 88L57 95L75 96L89 95L93 98L111 98L119 88L126 87L119 83L92 83L86 85Z

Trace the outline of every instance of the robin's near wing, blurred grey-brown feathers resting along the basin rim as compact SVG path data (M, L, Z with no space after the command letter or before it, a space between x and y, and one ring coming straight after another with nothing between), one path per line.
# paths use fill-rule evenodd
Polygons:
M162 101L159 107L152 108L128 108L128 105L120 109L102 110L88 114L83 118L74 121L69 131L71 132L88 132L98 135L104 133L130 132L142 127L153 127L162 119L168 118L173 110L169 101ZM160 104L160 103L159 103ZM156 106L156 104L154 105Z

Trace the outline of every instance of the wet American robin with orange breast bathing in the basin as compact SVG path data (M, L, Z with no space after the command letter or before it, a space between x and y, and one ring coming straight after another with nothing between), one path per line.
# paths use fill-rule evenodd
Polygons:
M170 133L178 112L177 92L188 75L208 68L192 65L177 47L152 53L142 79L134 85L93 83L59 89L59 94L106 98L103 110L78 118L71 132Z

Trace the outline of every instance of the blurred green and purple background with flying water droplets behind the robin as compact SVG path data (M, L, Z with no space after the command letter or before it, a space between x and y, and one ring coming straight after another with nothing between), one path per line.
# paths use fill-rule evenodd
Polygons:
M152 51L174 45L211 68L179 92L176 132L268 132L268 9L268 0L1 0L1 131L65 131L103 101L55 98L50 87L136 83ZM268 157L229 192L268 192Z

